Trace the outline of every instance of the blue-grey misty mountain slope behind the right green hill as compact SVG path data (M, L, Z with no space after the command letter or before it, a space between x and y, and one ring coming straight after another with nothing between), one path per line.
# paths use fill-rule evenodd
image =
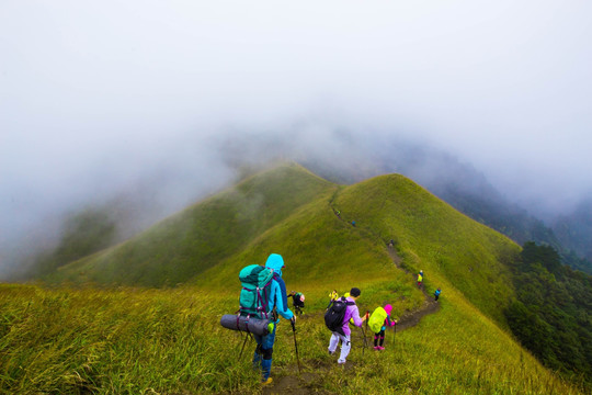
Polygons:
M351 151L325 159L309 158L305 166L321 177L355 183L385 173L401 173L426 188L459 212L523 245L553 246L565 264L592 273L592 210L582 202L571 215L545 224L512 203L473 166L437 150L401 140L358 142ZM335 159L337 158L337 159ZM372 159L368 159L372 158Z

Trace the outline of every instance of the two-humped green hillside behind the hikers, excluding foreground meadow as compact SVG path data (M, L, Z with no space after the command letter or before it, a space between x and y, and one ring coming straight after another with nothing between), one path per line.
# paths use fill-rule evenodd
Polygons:
M389 239L408 270L424 270L429 286L454 285L503 323L512 293L503 261L519 246L402 176L340 187L296 165L253 176L48 280L162 286L194 279L219 286L234 283L246 263L281 251L296 284L325 279L339 286L392 270Z

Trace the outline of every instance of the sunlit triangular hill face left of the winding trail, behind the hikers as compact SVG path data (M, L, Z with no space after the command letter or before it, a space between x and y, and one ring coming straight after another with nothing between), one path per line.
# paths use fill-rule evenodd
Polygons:
M234 284L240 268L246 263L264 263L270 251L282 253L286 281L291 280L295 286L322 281L329 292L331 284L338 286L344 279L372 281L380 278L385 270L394 272L385 249L352 232L351 226L332 213L328 202L326 195L304 205L289 218L253 239L241 253L203 273L196 279L198 284Z

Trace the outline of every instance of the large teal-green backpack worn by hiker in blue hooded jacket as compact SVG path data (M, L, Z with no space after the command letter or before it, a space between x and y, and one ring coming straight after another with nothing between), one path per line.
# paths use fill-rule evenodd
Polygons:
M240 315L270 318L271 312L267 308L273 271L259 264L249 264L240 271L239 280L242 283Z

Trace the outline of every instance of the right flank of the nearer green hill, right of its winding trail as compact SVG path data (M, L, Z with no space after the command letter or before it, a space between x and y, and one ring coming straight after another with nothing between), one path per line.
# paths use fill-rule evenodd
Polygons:
M513 294L504 262L520 253L509 238L459 214L409 179L382 176L340 192L333 205L376 240L395 239L406 267L433 287L452 284L503 323Z

